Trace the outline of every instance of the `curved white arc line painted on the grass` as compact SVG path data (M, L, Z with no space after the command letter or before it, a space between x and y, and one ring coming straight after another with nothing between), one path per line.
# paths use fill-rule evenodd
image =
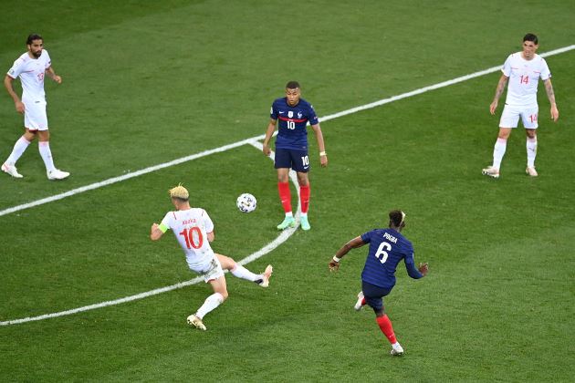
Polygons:
M256 147L256 149L261 150L262 149L262 144L259 142L251 142L251 144ZM272 151L270 154L270 159L274 160L275 158L275 153ZM299 188L298 188L298 178L296 176L296 172L295 171L289 171L289 178L292 181L292 183L294 185L296 185L296 188L298 189L298 212L296 213L296 218L299 218L299 210L300 210L300 204L299 204ZM260 258L264 255L266 255L267 253L272 252L274 249L277 248L277 246L279 246L281 243L284 243L286 241L288 241L288 238L293 234L296 233L296 230L298 230L298 225L299 225L299 220L298 223L296 225L296 227L293 228L288 228L286 230L284 230L283 232L281 232L277 238L275 240L273 240L270 243L267 243L267 245L265 245L264 247L262 247L260 250L258 250L256 253L254 254L250 254L248 256L246 256L246 258L242 259L241 261L238 262L238 264L249 264L252 261L255 261L257 258ZM227 270L226 270L227 273ZM189 285L195 285L198 284L200 282L204 281L204 278L202 278L201 276L195 277L189 281L185 281L185 282L180 282L178 284L175 285L169 285L166 287L161 287L161 288L156 288L154 290L151 291L147 291L145 293L141 293L141 294L137 294L137 295L131 295L131 296L126 296L120 299L114 299L112 301L106 301L106 302L100 302L99 304L94 304L94 305L85 305L82 307L78 307L78 308L73 308L71 310L66 310L66 311L60 311L58 313L53 313L53 314L44 314L42 316L28 316L26 318L21 318L21 319L12 319L12 320L7 320L5 322L0 322L0 326L9 326L9 325L17 325L17 324L21 324L21 323L26 323L26 322L34 322L37 320L42 320L42 319L49 319L49 318L55 318L57 316L71 316L73 314L78 314L81 313L83 311L89 311L89 310L94 310L97 308L102 308L102 307L107 307L109 305L120 305L126 302L131 302L131 301L136 301L139 299L143 299L143 298L147 298L148 296L152 296L152 295L158 295L158 294L162 294L162 293L167 293L169 291L172 290L176 290L182 287L186 287Z

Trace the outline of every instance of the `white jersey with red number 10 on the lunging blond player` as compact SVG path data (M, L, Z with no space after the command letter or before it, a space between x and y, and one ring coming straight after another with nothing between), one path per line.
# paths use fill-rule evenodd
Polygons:
M214 232L214 223L204 209L168 212L162 223L172 229L190 267L200 267L214 258L207 238L207 233Z

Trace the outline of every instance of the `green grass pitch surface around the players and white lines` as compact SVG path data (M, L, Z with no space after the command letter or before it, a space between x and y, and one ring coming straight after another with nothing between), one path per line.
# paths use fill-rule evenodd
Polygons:
M520 39L539 53L575 44L575 5L559 0L340 2L21 1L5 7L0 68L45 37L63 83L47 83L47 181L34 143L22 180L0 174L0 211L256 137L288 80L319 116L503 64ZM185 324L204 284L72 316L0 326L2 381L570 381L575 368L575 51L547 58L560 117L539 84L539 177L514 131L499 180L491 161L498 73L321 124L311 142L312 230L247 267L273 264L268 289L227 276L230 298ZM503 104L503 103L501 103ZM500 106L501 108L501 106ZM0 91L0 160L22 118ZM250 145L0 216L0 321L136 295L195 277L150 225L183 182L210 212L214 250L240 260L282 219L273 165ZM293 191L293 187L292 187ZM256 212L235 208L242 192ZM294 203L296 202L294 197ZM369 310L352 309L365 250L329 274L350 238L407 212L430 274L398 268L386 310L406 350Z

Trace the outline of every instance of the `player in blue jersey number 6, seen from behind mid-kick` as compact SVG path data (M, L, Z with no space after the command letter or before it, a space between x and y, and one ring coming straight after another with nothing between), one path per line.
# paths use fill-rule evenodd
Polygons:
M363 305L370 305L375 312L375 320L382 333L392 344L392 355L402 356L403 347L393 333L392 321L383 311L383 296L389 295L395 285L395 269L403 259L407 274L414 279L423 278L427 274L428 265L419 264L415 267L413 261L413 245L405 238L402 229L405 227L405 213L400 210L390 212L389 229L374 229L363 233L344 244L329 261L329 270L340 268L341 258L351 249L370 244L370 251L361 273L361 292L358 294L356 310Z

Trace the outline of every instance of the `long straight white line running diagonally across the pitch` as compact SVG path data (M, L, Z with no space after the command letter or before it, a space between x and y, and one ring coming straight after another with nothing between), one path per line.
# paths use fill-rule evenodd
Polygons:
M541 57L549 57L549 56L553 56L553 55L559 55L560 53L568 52L572 49L575 49L575 45L551 50L549 52L542 53L540 56ZM457 84L460 82L467 81L471 78L478 78L480 76L484 76L484 75L487 75L489 73L494 73L500 69L501 69L501 67L490 67L488 69L481 70L479 72L472 73L470 75L465 75L465 76L462 76L460 78L450 79L450 80L447 80L444 82L440 82L438 84L430 85L429 87L415 89L415 90L412 90L411 92L403 93L403 94L398 95L398 96L393 96L391 98L383 98L383 99L380 99L379 101L371 102L370 104L365 104L365 105L361 105L360 107L347 109L347 110L340 111L338 113L330 114L329 116L322 117L319 120L320 121L329 121L329 119L337 119L337 118L340 118L343 116L350 115L352 113L357 113L361 110L377 108L377 107L380 107L382 105L389 104L390 102L397 101L397 100L400 100L403 98L413 97L413 96L428 92L430 90L448 87L450 85L454 85L454 84ZM277 134L277 132L275 134ZM31 208L34 206L38 206L38 205L41 205L41 204L44 204L47 202L54 202L57 200L61 200L63 198L70 197L70 196L78 194L80 192L91 191L94 189L101 188L103 186L111 185L112 183L116 183L116 182L120 182L120 181L126 181L126 180L129 180L131 178L141 176L142 174L150 173L152 171L159 171L163 168L168 168L168 167L173 166L173 165L178 165L180 163L187 162L189 160L196 160L196 159L199 159L201 157L209 156L210 154L219 153L219 152L223 152L226 150L234 149L234 148L240 147L242 145L246 145L246 144L252 144L253 142L256 142L258 140L264 140L265 138L266 138L266 135L262 134L262 135L259 135L256 137L252 137L251 139L237 141L237 142L234 142L234 143L231 143L228 145L221 146L219 148L215 148L212 150L205 150L205 151L202 151L200 153L196 153L196 154L192 154L190 156L182 157L182 158L177 159L177 160L171 160L170 162L164 162L164 163L161 163L159 165L154 165L154 166L151 166L149 168L142 169L141 171L134 171L134 172L131 172L128 174L118 176L118 177L110 178L110 179L105 180L105 181L99 181L96 183L92 183L92 184L89 184L87 186L82 186L78 189L66 191L66 192L63 192L60 194L53 195L51 197L43 198L41 200L17 205L17 206L14 206L14 207L0 211L0 216L10 214L12 212L18 212L21 210L25 210L25 209L28 209L28 208Z

